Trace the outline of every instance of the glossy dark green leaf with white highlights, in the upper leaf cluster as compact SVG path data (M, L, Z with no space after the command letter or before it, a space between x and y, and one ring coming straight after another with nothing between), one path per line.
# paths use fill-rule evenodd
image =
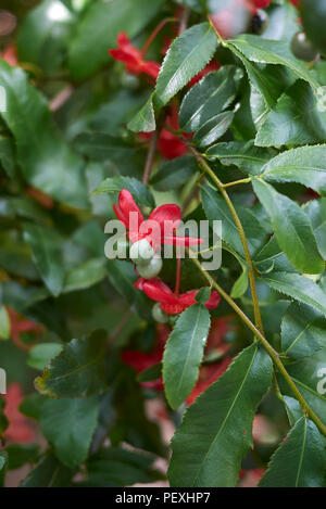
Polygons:
M180 129L184 132L195 132L212 116L229 106L236 97L241 77L240 69L234 65L225 65L191 87L181 102Z

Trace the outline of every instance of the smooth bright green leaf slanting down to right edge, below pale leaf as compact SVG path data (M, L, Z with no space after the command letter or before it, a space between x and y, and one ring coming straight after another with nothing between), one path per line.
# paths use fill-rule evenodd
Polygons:
M325 262L319 255L304 211L268 183L254 179L252 184L261 204L272 219L277 242L291 264L304 273L323 272Z

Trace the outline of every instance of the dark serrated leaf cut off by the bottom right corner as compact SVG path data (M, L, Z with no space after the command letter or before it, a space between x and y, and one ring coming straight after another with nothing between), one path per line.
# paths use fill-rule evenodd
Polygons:
M302 417L272 457L260 487L323 487L325 440L316 425Z

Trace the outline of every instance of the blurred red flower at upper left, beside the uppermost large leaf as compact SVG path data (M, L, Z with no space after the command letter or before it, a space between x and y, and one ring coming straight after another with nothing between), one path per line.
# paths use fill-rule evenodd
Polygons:
M130 16L133 13L130 13ZM109 54L114 60L123 62L128 73L139 75L141 73L156 79L160 72L160 64L156 62L146 61L143 54L138 48L135 48L127 34L121 31L116 38L118 49L109 50Z

